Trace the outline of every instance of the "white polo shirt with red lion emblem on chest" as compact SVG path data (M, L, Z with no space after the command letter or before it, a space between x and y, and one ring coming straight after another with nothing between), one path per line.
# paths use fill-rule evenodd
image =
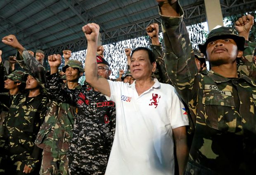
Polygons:
M112 82L116 133L106 175L174 175L173 128L188 125L174 87L155 84L138 96L133 84Z

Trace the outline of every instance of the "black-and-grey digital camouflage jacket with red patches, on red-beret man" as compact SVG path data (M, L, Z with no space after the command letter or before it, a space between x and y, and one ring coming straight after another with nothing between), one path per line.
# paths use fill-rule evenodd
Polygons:
M78 108L69 147L69 166L104 174L114 140L115 103L84 86L75 92L61 89L57 74L47 76L47 91L53 98Z

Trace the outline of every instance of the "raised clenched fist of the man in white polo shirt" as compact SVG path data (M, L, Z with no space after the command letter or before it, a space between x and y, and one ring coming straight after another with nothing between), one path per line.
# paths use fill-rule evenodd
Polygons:
M85 37L87 42L97 42L100 26L96 23L88 23L82 27L83 32L85 33Z

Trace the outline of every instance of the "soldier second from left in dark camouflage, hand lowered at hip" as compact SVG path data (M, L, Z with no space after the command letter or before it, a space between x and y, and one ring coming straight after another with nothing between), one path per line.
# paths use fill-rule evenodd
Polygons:
M7 175L38 175L41 150L34 141L45 118L48 99L31 75L26 75L28 93L19 93L4 121L0 150L0 172Z

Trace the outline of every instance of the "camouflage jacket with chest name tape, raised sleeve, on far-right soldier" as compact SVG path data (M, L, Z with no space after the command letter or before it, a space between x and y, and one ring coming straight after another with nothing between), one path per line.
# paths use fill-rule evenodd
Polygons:
M166 70L196 119L186 175L255 174L256 84L197 73L190 38L180 17L161 16Z

